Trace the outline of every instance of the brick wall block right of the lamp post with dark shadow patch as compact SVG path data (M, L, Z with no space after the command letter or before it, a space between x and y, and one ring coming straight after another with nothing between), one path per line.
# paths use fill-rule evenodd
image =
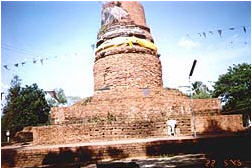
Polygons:
M237 132L243 130L242 114L196 116L198 133Z

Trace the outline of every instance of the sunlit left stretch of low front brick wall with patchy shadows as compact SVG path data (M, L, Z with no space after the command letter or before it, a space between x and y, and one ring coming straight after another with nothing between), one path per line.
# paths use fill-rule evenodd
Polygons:
M76 163L90 163L104 159L121 159L146 156L150 143L126 143L113 145L90 145L54 147L26 150L2 150L2 167L70 167Z

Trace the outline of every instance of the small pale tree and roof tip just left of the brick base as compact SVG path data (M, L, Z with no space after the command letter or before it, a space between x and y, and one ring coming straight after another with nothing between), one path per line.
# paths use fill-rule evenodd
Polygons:
M55 95L52 98L47 99L48 104L51 107L57 107L60 105L67 104L67 97L64 93L64 90L59 88L54 90Z

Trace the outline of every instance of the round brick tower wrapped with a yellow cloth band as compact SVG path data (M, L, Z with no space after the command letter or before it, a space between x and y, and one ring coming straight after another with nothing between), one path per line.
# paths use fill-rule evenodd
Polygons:
M103 5L94 89L162 87L161 63L139 2Z

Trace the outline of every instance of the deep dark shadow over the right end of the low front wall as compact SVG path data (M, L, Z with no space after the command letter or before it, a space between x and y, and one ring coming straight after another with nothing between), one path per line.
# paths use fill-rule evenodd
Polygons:
M251 136L248 133L239 136L184 140L177 143L151 142L146 147L146 154L153 157L200 153L206 156L206 167L241 167L243 163L251 161L250 149Z

